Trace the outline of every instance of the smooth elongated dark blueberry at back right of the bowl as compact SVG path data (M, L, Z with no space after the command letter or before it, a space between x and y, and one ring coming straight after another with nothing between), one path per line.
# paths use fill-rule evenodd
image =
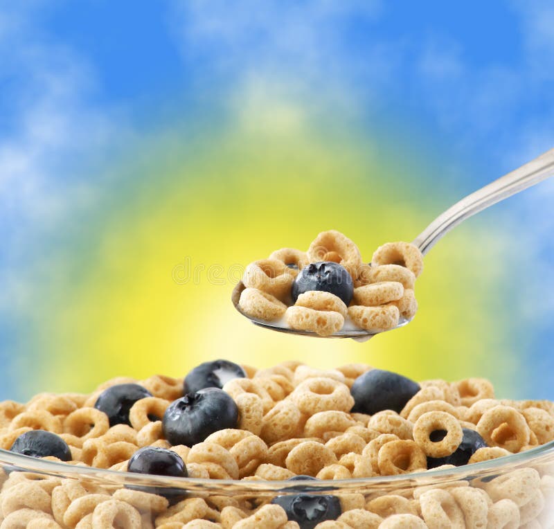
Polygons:
M391 371L372 369L360 375L352 384L350 393L354 397L353 412L373 415L377 411L402 411L420 385L409 378Z

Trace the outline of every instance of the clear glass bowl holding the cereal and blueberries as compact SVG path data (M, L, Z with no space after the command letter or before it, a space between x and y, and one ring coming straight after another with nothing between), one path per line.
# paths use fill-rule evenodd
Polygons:
M271 505L277 496L301 528L554 527L554 442L464 467L335 481L166 478L6 450L0 465L1 529L297 528ZM154 487L172 505L143 492Z

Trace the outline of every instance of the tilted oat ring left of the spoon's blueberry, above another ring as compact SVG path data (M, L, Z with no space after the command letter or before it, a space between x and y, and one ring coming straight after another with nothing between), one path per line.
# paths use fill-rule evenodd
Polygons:
M242 283L245 287L262 290L280 301L286 301L296 274L298 270L290 269L283 261L262 259L247 266Z

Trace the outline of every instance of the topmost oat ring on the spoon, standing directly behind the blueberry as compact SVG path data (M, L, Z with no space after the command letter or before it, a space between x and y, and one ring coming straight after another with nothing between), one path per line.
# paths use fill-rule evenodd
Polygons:
M358 269L362 266L359 249L346 235L339 231L322 231L317 235L307 250L310 262L334 261L341 264L352 278L358 276Z

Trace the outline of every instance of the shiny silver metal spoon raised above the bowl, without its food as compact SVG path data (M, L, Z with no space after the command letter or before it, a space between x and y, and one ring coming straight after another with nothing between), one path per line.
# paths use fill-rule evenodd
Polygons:
M497 180L489 183L483 188L472 192L471 195L456 202L454 206L448 208L444 213L441 213L436 219L434 219L420 235L415 237L413 244L418 246L421 253L425 255L436 242L443 237L447 232L452 230L454 226L458 226L465 219L472 217L476 213L483 211L484 209L497 204L497 202L511 197L516 193L523 191L524 189L535 186L536 183L546 180L548 177L554 175L554 148L541 154L534 160L521 165L520 168L505 174ZM233 289L231 299L235 309L243 316L246 316L252 323L260 325L270 330L278 332L289 332L291 334L301 334L302 336L319 337L315 332L301 331L283 327L280 322L263 321L251 318L241 312L238 306L240 293L244 290L244 284L242 281L236 285ZM404 327L411 320L400 319L400 323L394 328ZM392 330L392 329L390 329ZM378 334L377 332L370 332L366 330L341 330L328 338L353 338L357 341L366 341L371 337Z

